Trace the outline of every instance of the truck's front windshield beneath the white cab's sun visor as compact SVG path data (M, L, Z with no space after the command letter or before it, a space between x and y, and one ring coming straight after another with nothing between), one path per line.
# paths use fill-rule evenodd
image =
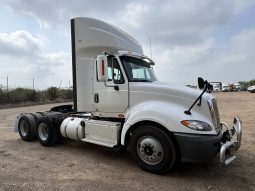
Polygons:
M120 56L130 82L154 82L157 80L148 59Z

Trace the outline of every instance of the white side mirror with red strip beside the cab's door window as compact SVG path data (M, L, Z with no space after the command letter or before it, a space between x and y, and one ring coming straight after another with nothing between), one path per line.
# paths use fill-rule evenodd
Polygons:
M97 56L97 80L99 82L106 82L108 80L108 62L105 55Z

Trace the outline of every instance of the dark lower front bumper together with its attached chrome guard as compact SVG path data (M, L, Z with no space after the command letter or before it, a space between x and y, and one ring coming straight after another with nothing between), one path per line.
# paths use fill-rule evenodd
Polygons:
M220 162L228 165L236 157L233 154L241 146L242 122L239 117L234 118L233 128L221 123L226 128L218 135L174 133L180 149L183 162L209 162L220 153ZM234 137L236 137L234 139Z

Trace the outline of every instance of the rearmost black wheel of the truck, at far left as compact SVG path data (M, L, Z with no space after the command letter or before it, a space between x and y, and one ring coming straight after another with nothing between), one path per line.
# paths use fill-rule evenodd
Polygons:
M22 114L18 122L18 131L23 141L33 141L35 135L36 121L30 114Z

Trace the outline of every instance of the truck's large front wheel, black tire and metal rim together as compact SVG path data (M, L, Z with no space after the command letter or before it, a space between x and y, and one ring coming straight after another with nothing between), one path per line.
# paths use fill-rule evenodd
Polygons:
M143 170L156 174L168 172L177 156L170 137L152 125L135 130L130 140L130 154Z

